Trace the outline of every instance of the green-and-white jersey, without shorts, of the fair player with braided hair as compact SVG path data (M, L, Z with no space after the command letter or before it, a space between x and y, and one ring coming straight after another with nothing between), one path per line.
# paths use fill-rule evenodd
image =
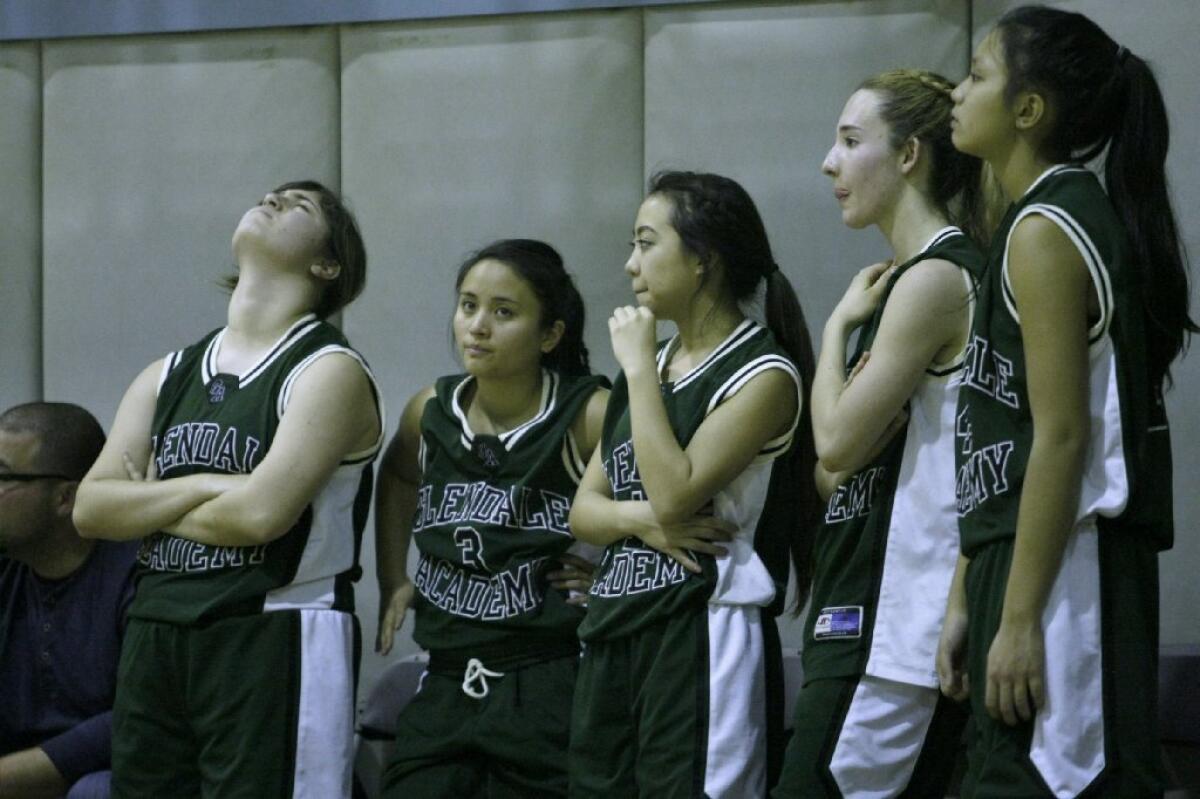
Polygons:
M960 229L943 228L892 274L874 317L859 328L847 373L871 349L896 281L930 259L960 266L974 296L983 253ZM812 553L805 679L865 672L937 685L934 654L959 552L954 413L961 367L959 353L926 368L906 403L905 428L829 497Z

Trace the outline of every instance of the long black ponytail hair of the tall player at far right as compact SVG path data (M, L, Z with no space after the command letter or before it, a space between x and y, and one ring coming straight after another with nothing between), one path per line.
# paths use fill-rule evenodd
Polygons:
M1006 96L1039 91L1054 108L1048 158L1090 161L1108 148L1104 182L1141 271L1147 360L1154 385L1200 331L1188 316L1187 253L1166 188L1170 128L1150 65L1082 14L1022 6L996 24Z

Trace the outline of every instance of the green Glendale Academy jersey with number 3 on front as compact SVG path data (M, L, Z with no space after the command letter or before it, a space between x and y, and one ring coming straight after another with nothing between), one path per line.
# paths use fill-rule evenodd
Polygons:
M583 613L545 575L576 543L568 516L587 464L571 425L607 380L542 371L538 414L500 435L472 432L473 382L439 379L421 415L413 637L448 660L506 668L578 645Z

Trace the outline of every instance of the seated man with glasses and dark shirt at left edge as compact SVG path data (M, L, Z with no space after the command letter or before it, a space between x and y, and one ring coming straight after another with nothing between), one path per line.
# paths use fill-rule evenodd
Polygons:
M108 795L137 543L84 540L71 522L103 444L78 405L0 415L0 799Z

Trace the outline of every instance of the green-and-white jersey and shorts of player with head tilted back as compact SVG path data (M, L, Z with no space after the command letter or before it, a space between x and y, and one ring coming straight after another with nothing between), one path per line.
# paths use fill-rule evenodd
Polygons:
M295 380L334 353L368 376L380 439L346 456L270 543L145 539L119 668L113 793L348 797L359 643L352 581L383 407L361 356L312 314L242 374L218 372L223 337L214 331L163 361L152 422L160 480L252 471Z

